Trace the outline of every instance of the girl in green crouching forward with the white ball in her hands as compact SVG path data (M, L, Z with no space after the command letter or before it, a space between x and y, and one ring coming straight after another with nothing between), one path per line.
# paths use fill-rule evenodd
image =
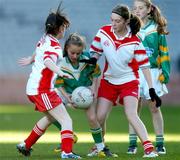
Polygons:
M82 36L73 33L68 37L64 46L64 58L60 63L60 70L72 76L72 78L68 79L58 76L55 87L58 89L59 96L63 99L63 103L73 108L75 108L75 106L73 106L71 94L74 89L80 86L86 86L92 90L94 103L89 108L84 109L84 111L97 152L93 155L88 154L87 156L117 157L116 154L112 154L110 150L105 147L102 139L102 129L96 116L98 77L101 75L101 71L98 64L87 64L84 62L90 59L89 52L85 52L84 49L85 42Z

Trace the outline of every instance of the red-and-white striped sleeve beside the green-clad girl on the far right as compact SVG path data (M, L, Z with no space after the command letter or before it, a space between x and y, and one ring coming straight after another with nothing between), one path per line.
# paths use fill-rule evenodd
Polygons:
M146 50L141 42L135 48L134 55L140 68L150 66L149 59L146 54Z

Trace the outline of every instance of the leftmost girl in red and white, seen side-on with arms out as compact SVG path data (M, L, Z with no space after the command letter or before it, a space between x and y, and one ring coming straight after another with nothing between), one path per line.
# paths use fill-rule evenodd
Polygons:
M65 15L59 12L51 13L45 23L45 34L38 42L35 54L19 60L21 65L33 63L32 72L29 76L26 94L29 100L35 104L35 110L45 116L39 120L29 136L16 147L24 156L30 156L32 145L43 135L45 130L55 120L61 124L61 158L81 159L72 152L73 128L72 120L66 111L62 99L57 95L54 88L54 80L59 77L71 78L69 74L59 69L58 63L63 59L59 39L63 38L69 21Z

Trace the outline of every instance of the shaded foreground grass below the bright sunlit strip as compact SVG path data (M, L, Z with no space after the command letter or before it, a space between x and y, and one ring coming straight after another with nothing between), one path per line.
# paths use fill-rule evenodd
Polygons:
M127 155L127 144L126 143L111 143L108 146L115 152L118 153L119 158L117 160L144 160L142 158L143 150L139 147L137 155ZM179 160L179 143L166 143L168 153L167 155L162 155L156 158L157 160ZM56 144L36 144L33 148L34 151L32 156L25 158L22 155L18 154L15 149L15 144L0 144L0 159L1 160L51 160L59 159L59 154L53 152L53 148L56 147ZM86 153L89 148L92 147L91 143L82 144L78 143L75 145L74 150L76 153L83 156L83 159L93 159L97 160L98 158L87 158ZM113 159L113 158L109 158Z

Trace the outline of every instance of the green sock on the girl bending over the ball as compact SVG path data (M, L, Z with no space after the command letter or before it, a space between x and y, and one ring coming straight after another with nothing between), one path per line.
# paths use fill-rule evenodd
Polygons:
M102 128L91 128L90 129L94 142L102 143Z

